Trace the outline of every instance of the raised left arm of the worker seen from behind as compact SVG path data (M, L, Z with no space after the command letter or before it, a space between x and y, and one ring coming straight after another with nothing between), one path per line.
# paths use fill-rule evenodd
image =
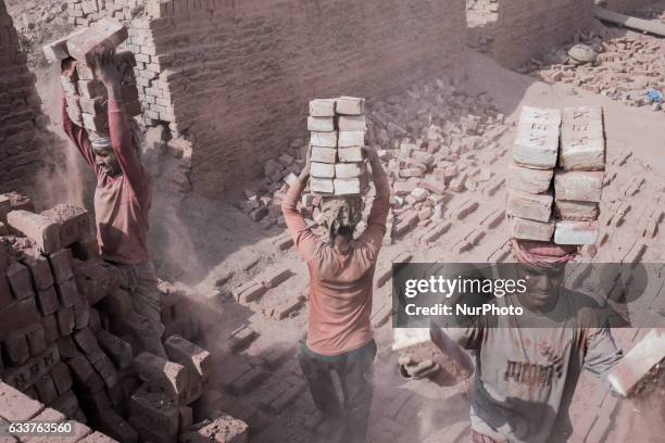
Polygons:
M289 191L287 192L284 201L281 202L281 213L284 214L284 220L293 238L293 242L296 243L296 249L300 256L309 262L316 257L318 250L322 245L321 239L312 232L312 230L308 227L304 218L298 212L298 202L302 197L302 192L304 191L308 180L310 178L310 152L308 152L308 160L305 162L305 166L300 173L300 176L296 180L296 182L291 186Z

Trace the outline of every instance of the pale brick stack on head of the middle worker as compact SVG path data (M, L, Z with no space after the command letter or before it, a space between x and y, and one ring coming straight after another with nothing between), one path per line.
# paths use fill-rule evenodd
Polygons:
M353 97L310 102L310 190L319 195L360 195L366 186L365 100Z

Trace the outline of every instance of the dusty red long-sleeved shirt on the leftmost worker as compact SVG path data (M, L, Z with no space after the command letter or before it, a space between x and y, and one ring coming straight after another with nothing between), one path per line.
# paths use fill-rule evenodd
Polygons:
M134 150L123 102L109 100L111 143L123 170L118 177L109 177L96 164L88 132L70 119L64 97L62 123L64 131L97 175L95 218L101 256L123 264L147 261L148 211L152 200L152 180Z

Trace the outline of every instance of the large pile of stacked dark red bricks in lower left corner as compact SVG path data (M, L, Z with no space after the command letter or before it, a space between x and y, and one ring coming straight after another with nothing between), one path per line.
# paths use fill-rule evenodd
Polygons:
M244 442L247 425L209 400L192 294L160 282L168 359L140 352L146 318L89 230L85 210L0 194L0 425L72 419L71 442Z

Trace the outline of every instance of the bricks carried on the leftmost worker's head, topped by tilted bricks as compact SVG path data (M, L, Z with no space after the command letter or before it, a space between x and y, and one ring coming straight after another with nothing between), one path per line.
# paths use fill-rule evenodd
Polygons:
M109 136L108 92L104 85L95 78L95 58L103 45L116 48L126 39L125 25L103 18L43 47L47 59L52 63L68 58L76 61L74 74L71 78L63 76L62 86L70 119L85 127L91 140ZM134 54L128 51L117 52L114 54L114 63L123 73L122 98L125 112L129 116L140 115L141 104L133 71L136 66Z

